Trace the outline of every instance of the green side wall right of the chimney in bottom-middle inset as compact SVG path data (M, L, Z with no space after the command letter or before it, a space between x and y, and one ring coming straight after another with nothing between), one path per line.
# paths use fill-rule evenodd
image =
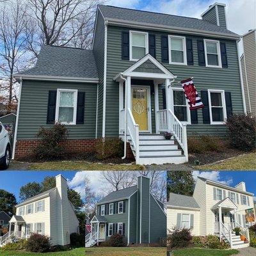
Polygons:
M166 238L166 214L150 195L150 243L159 243L160 238Z

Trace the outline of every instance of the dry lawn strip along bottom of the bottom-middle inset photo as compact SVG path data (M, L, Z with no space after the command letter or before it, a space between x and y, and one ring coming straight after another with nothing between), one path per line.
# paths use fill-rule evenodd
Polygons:
M90 256L166 256L165 247L92 247L85 248Z

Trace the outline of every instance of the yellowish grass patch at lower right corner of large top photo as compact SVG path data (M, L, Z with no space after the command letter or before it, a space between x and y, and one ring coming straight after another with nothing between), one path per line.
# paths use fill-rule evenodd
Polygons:
M196 166L198 170L256 170L255 152L227 159L218 164Z

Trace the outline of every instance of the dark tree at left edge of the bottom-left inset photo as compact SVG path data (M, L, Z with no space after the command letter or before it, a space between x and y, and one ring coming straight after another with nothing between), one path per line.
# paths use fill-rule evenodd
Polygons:
M4 189L0 189L0 211L4 211L12 216L15 214L15 205L17 205L15 195Z

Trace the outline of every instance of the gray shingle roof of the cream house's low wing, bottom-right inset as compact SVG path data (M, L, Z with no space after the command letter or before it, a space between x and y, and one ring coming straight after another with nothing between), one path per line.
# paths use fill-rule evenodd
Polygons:
M170 193L167 205L200 209L199 205L196 203L195 198L192 196L184 196L174 193Z

